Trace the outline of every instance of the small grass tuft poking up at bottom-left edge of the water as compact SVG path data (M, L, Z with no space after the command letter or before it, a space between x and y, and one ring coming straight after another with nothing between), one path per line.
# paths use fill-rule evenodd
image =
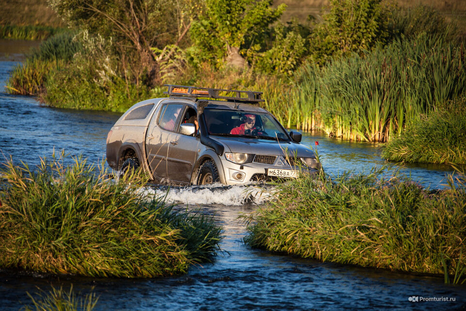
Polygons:
M61 287L56 289L52 286L50 292L46 293L41 291L37 298L33 298L31 294L29 297L32 300L32 306L25 306L24 311L92 311L94 310L97 301L99 300L95 294L87 294L83 298L77 298L73 291L73 286L66 292Z

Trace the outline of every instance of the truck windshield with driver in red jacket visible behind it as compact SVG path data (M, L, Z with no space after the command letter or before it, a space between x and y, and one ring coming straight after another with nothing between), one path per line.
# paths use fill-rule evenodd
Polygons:
M209 135L289 141L283 127L265 113L206 108L204 117Z

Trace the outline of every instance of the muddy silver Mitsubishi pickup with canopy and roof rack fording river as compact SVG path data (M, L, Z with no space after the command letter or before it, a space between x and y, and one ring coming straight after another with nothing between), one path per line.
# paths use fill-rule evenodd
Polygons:
M114 170L140 167L158 183L235 185L320 169L301 134L257 105L262 92L167 86L168 98L134 104L108 133Z

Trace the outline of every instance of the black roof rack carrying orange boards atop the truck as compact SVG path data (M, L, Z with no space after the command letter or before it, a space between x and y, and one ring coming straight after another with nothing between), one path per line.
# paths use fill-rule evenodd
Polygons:
M169 96L208 97L215 99L233 100L236 102L249 104L265 102L265 100L261 99L262 92L196 86L177 86L172 84L166 84L165 86L168 86L168 91L164 92L164 94L168 94ZM236 97L220 96L219 92L236 92ZM247 97L241 97L241 95L244 94L246 94Z

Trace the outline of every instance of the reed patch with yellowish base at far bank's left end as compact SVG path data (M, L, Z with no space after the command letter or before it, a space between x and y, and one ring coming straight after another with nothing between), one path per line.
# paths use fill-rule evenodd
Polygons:
M11 94L38 95L50 72L63 67L82 46L71 32L60 33L41 43L24 63L10 74L6 88Z

